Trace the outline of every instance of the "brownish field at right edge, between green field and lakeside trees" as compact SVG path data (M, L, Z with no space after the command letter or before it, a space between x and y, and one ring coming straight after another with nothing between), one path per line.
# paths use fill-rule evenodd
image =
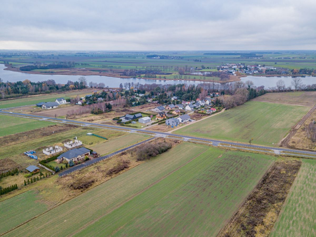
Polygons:
M312 108L316 101L316 91L274 92L261 95L252 100Z

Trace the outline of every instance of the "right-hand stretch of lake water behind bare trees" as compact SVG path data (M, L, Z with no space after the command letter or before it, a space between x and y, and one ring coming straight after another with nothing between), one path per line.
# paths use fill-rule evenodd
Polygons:
M264 88L276 86L276 82L282 79L285 82L285 86L291 86L293 76L246 76L241 77L241 81L246 82L248 80L252 81L255 86L264 86ZM311 85L316 83L315 76L299 76L296 78L302 79L302 84Z

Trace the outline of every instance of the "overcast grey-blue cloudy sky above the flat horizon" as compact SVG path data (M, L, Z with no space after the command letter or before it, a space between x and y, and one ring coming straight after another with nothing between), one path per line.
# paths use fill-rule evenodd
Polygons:
M316 50L315 12L315 0L12 0L0 49Z

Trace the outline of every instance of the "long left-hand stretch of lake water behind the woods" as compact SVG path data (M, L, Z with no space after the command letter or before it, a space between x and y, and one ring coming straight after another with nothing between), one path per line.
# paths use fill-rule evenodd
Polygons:
M14 72L9 70L3 70L6 67L4 64L0 64L0 78L2 78L3 82L18 82L24 81L25 79L30 80L31 82L41 82L46 80L55 80L56 83L66 84L68 80L77 81L80 77L79 75L43 75L43 74L28 74L24 72ZM119 84L122 83L124 85L125 82L139 82L140 84L179 84L186 83L188 85L197 85L201 82L199 81L183 81L183 80L149 80L149 79L138 79L138 78L119 78L112 76L84 76L87 79L87 82L103 82L105 86L109 87L119 87Z

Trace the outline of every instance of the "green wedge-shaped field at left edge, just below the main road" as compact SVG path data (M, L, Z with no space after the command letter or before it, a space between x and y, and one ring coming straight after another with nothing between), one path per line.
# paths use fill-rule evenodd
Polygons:
M37 128L54 125L53 122L40 121L37 119L26 119L8 115L0 115L1 129L0 137L18 132L30 131Z

